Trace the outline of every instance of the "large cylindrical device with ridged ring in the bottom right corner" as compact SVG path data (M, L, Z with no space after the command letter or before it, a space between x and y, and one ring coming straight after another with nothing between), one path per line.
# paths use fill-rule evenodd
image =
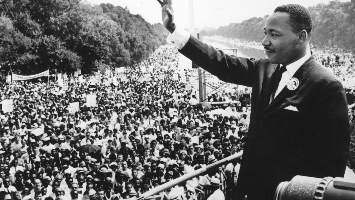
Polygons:
M274 200L355 200L355 182L340 177L314 178L296 175L281 182Z

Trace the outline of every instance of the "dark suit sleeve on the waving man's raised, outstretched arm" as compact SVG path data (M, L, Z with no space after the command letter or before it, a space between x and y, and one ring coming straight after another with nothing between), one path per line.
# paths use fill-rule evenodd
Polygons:
M227 55L192 36L179 52L222 81L252 87L259 60Z

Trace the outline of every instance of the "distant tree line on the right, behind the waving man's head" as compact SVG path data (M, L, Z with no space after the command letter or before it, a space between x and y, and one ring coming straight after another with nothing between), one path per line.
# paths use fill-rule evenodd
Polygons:
M331 1L308 7L313 28L311 44L318 48L339 47L355 50L355 0ZM262 41L267 16L253 17L241 23L231 23L217 30L202 31L204 35L219 35L249 41Z

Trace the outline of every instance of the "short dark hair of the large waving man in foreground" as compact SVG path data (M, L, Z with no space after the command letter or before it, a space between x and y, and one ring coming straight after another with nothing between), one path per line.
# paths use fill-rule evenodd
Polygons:
M306 30L308 36L311 36L312 19L310 12L303 6L298 4L287 4L277 7L274 12L286 12L290 15L290 23L293 31L298 33Z

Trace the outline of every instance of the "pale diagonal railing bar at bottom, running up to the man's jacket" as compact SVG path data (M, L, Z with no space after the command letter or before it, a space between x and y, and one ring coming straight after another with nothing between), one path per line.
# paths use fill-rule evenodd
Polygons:
M206 172L211 171L212 169L215 169L216 167L222 166L223 164L230 163L231 161L237 160L238 158L241 158L243 155L243 151L240 151L238 153L235 153L234 155L228 156L226 158L223 158L220 161L217 161L215 163L209 164L206 167L197 169L189 174L185 174L179 178L173 179L167 183L164 183L162 185L159 185L156 188L152 188L149 191L143 193L140 197L133 197L130 200L141 200L141 199L146 199L149 196L153 196L155 194L159 194L162 191L165 191L169 188L175 187L176 185L179 185L180 183L184 183L187 180L190 180L192 178L198 177L201 174L204 174Z

